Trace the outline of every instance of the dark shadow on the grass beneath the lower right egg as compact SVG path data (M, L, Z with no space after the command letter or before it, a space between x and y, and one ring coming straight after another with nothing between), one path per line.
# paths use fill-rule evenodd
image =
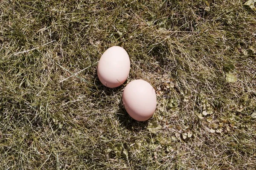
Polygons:
M119 102L119 110L116 113L116 117L120 123L121 127L126 128L127 130L130 130L132 132L140 132L141 130L145 130L148 126L148 120L144 122L139 122L135 119L133 119L125 110L124 105L121 102Z

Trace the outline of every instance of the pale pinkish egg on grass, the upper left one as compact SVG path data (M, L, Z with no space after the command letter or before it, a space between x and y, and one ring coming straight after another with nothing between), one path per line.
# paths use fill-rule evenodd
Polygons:
M124 48L113 46L108 48L100 57L97 74L100 82L116 88L122 85L130 72L130 59Z

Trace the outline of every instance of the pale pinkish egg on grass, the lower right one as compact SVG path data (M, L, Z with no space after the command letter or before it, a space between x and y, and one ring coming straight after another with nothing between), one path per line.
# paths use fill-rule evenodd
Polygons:
M142 79L128 83L124 88L122 102L127 113L137 121L148 120L156 110L157 96L154 88Z

